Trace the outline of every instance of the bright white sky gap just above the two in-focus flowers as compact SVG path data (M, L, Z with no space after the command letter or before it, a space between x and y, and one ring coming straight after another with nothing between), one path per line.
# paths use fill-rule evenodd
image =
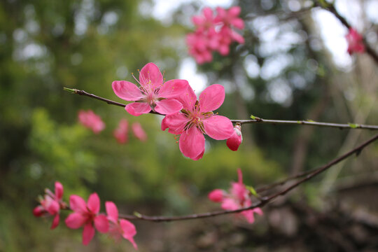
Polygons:
M179 78L188 80L190 87L198 95L205 89L207 77L204 73L197 73L197 64L194 59L185 58L180 64Z

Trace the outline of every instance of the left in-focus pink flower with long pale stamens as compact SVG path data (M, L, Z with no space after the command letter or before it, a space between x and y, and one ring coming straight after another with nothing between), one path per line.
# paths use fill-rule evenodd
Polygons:
M182 109L183 106L175 98L185 92L188 81L164 82L158 66L148 63L141 69L137 82L139 87L126 80L115 80L112 83L113 91L118 97L126 101L134 101L125 106L126 111L133 116L150 113L151 110L167 115Z

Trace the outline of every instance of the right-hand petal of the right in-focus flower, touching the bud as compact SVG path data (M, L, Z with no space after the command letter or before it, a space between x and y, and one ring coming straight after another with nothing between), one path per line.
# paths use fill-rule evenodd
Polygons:
M205 120L204 130L212 139L224 140L231 137L234 133L234 127L231 120L225 116L211 116Z

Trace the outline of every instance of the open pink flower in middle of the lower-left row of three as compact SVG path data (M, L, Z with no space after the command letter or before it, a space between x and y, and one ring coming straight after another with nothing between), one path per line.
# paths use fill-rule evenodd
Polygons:
M97 193L92 193L87 204L78 195L69 197L69 207L73 210L72 214L66 218L66 225L72 229L83 228L83 244L87 245L94 237L94 227L99 232L106 233L109 230L109 222L104 214L99 214L100 201Z

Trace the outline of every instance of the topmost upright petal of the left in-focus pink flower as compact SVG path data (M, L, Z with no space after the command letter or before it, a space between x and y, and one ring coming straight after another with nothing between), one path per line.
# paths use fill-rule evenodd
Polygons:
M146 66L143 66L139 73L139 82L148 90L155 90L162 85L163 77L158 66L151 62L146 64ZM150 87L148 87L149 85Z

